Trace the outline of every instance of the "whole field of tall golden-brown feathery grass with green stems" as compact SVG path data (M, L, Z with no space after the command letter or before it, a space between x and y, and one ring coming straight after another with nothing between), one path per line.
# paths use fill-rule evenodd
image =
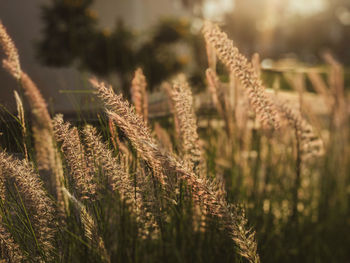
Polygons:
M326 54L322 73L285 73L287 101L278 79L263 85L257 54L210 22L202 33L206 114L180 74L162 84L170 114L154 117L135 69L131 102L90 78L105 110L92 125L49 114L0 23L23 95L1 113L0 262L350 262L343 67Z

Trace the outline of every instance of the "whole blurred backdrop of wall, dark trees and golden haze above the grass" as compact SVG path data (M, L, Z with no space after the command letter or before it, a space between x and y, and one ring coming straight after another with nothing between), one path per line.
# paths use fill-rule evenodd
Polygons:
M258 52L265 68L277 60L322 65L331 51L348 79L349 0L11 0L0 1L0 19L24 70L60 112L84 107L91 74L128 96L138 66L151 90L181 71L200 91L203 19L218 22L246 56ZM16 83L2 70L0 83L0 103L13 110Z

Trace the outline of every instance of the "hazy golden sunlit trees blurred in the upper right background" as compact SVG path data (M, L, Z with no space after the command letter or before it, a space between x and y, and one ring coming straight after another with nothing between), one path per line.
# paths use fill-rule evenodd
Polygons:
M328 0L324 10L310 14L291 13L287 4L235 0L233 13L225 19L225 31L247 55L259 52L262 57L279 58L293 53L303 61L320 63L320 54L331 50L350 65L350 1Z

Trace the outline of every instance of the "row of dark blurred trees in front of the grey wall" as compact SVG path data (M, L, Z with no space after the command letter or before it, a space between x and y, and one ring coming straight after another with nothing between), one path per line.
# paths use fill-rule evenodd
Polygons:
M48 66L69 66L104 76L119 74L128 96L130 79L142 67L150 88L186 68L184 44L191 49L195 36L190 23L180 19L158 22L147 41L140 43L121 21L112 32L97 27L97 17L89 9L93 0L54 0L42 8L43 39L38 44L39 59ZM198 41L197 41L198 42Z

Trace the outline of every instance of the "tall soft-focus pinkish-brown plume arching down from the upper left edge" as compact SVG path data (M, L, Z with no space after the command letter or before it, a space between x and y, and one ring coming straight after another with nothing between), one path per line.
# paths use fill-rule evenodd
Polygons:
M36 160L40 174L50 178L47 180L50 192L56 195L59 206L63 209L65 201L60 190L63 184L62 163L53 141L51 117L46 102L34 82L21 70L17 49L1 22L0 44L7 56L3 60L3 67L19 81L31 108Z

